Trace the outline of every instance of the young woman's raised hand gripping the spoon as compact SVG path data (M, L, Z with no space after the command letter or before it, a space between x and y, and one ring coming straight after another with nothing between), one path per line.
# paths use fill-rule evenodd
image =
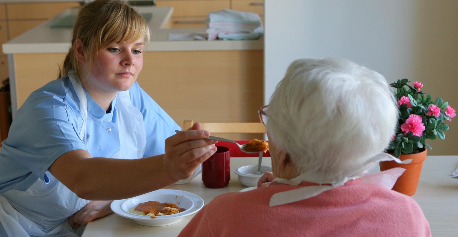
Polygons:
M195 123L187 131L165 140L163 162L170 179L179 181L191 177L194 169L216 152L216 141L204 139L210 132L199 130L201 128L200 123Z

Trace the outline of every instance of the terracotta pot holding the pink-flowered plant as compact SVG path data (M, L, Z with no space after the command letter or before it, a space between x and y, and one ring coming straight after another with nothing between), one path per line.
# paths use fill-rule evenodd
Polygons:
M393 155L393 154L392 154ZM398 164L394 161L380 162L380 171L401 167L406 169L394 184L393 190L405 195L414 195L417 190L418 180L420 179L421 167L426 159L426 149L420 153L402 154L400 160L412 159L409 164Z

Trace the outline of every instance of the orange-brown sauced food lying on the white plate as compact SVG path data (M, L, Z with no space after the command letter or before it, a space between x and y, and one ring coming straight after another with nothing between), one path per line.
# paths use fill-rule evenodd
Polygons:
M173 203L162 203L158 201L142 202L129 210L129 212L132 214L151 216L151 218L156 218L156 216L177 214L182 211L186 211L186 209L178 207Z

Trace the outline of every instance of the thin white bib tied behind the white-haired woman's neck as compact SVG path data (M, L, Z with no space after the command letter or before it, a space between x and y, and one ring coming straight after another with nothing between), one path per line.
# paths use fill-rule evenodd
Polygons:
M277 206L288 204L300 200L305 200L316 195L321 194L324 191L337 188L338 186L344 185L347 181L361 178L361 182L368 184L380 184L388 189L392 189L396 180L404 173L403 168L388 169L383 172L375 174L365 174L375 163L380 161L393 160L396 163L410 163L412 159L406 159L401 161L398 158L393 157L387 153L380 153L375 157L367 160L360 169L357 169L353 174L345 174L340 177L328 177L328 174L323 173L303 173L293 179L282 179L275 178L272 182L279 182L290 185L299 185L302 181L312 182L316 184L331 184L331 185L313 185L306 186L299 189L288 190L284 192L275 193L270 198L269 206Z

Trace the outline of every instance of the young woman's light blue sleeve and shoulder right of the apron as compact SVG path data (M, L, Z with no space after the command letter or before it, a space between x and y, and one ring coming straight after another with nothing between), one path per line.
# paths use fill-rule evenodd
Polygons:
M143 157L164 154L165 139L180 126L136 82L129 90L132 104L143 114L147 145Z

